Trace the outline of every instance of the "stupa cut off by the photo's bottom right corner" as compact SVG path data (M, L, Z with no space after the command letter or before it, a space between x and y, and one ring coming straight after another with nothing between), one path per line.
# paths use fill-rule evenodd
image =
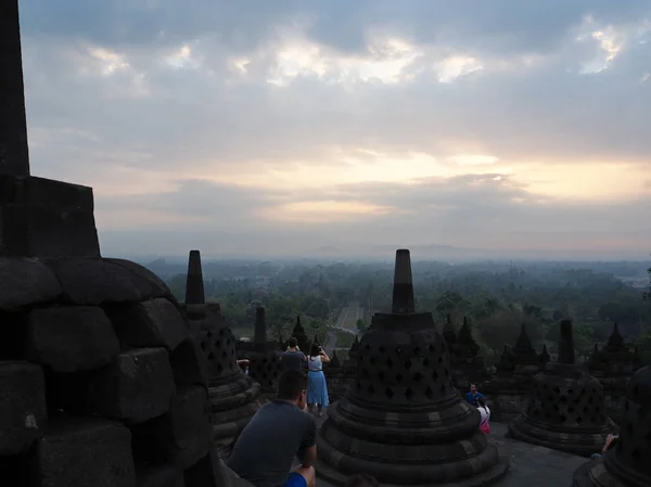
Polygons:
M572 487L649 487L651 485L651 367L628 383L616 446L598 461L582 465Z

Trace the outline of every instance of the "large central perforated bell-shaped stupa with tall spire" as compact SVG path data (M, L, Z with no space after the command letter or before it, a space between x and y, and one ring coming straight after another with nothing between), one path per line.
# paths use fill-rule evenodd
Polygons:
M432 313L414 312L409 251L396 253L392 312L373 317L357 360L355 383L319 432L317 475L334 485L365 473L384 486L470 487L507 473L478 411L452 385Z

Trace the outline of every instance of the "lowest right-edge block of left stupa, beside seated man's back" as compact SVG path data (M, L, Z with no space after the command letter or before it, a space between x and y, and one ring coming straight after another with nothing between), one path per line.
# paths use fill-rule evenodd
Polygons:
M152 464L173 464L188 469L212 448L212 423L205 387L179 387L169 411L136 425L133 454Z

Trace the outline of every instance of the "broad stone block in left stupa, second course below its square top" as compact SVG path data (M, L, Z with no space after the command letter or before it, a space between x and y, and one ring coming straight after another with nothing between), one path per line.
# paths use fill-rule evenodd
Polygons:
M65 306L29 312L27 358L54 372L105 366L119 354L111 321L98 307Z

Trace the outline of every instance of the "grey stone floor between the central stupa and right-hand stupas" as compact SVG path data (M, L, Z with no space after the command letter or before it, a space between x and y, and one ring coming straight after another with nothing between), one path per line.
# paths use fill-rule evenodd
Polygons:
M326 418L318 418L320 426ZM538 447L514 439L506 438L507 425L492 423L492 438L502 451L511 457L511 470L498 487L570 487L572 473L587 460L549 448ZM318 480L319 487L333 487L327 482Z

